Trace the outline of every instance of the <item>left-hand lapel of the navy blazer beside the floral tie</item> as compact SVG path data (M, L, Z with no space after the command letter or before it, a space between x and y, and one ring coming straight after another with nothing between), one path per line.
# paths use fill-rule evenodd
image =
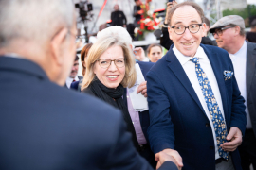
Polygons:
M195 101L195 103L197 103L198 107L205 113L205 110L203 109L196 93L192 88L190 79L188 78L180 62L176 58L172 48L169 50L167 55L168 56L166 60L169 61L168 67L173 71L174 75L177 77L177 79L180 81L183 87L188 91L188 93L190 93L190 95L192 96L192 99Z

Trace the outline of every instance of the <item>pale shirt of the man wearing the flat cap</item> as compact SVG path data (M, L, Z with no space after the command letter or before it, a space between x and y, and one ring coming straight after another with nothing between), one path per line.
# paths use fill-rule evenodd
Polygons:
M247 42L235 54L229 54L234 66L234 76L236 78L241 95L245 98L246 113L247 113L247 128L252 128L249 112L247 108Z

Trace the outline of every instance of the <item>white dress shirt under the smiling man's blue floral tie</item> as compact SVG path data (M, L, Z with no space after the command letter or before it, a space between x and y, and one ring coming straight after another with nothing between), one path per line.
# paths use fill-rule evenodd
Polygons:
M215 159L218 159L218 158L220 158L220 156L219 156L218 146L217 146L217 143L216 143L216 135L215 135L214 127L213 127L213 124L212 124L212 121L211 121L211 118L210 118L210 112L209 112L207 104L205 102L205 97L202 93L199 82L197 80L197 76L196 76L196 73L195 73L195 63L190 61L190 59L192 59L192 57L186 57L182 53L180 53L177 50L177 48L175 47L175 45L174 45L173 50L174 50L174 54L176 55L177 59L179 60L180 64L182 65L186 75L190 79L190 81L192 83L192 88L193 88L194 92L196 93L196 95L197 95L203 109L205 110L209 121L210 121L210 127L211 127L211 131L212 131L212 135L213 135L213 139L214 139L214 144L215 144ZM217 100L217 103L219 105L219 109L220 109L220 111L223 115L224 121L225 121L221 94L220 94L220 91L219 91L219 87L218 87L216 77L215 77L214 72L212 70L212 67L210 65L210 60L208 59L206 53L204 52L204 49L201 46L199 46L197 48L197 51L196 51L196 54L195 54L194 57L197 57L199 59L200 66L204 70L204 72L206 73L206 75L207 75L207 77L210 81L210 86L211 86L212 92L214 93L214 96L215 96L215 98Z

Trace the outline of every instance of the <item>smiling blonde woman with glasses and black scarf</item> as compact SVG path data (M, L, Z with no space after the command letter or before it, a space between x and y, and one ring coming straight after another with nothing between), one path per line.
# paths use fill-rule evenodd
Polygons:
M122 95L124 88L133 87L137 80L135 59L129 44L119 36L104 36L95 42L86 60L82 93L101 98L122 111L127 130L132 133L138 150L136 131Z

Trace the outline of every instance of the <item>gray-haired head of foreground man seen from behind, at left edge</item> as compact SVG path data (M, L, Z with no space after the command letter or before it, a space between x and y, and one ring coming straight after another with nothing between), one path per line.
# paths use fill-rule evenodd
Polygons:
M15 53L63 85L75 57L72 0L0 0L0 55Z

